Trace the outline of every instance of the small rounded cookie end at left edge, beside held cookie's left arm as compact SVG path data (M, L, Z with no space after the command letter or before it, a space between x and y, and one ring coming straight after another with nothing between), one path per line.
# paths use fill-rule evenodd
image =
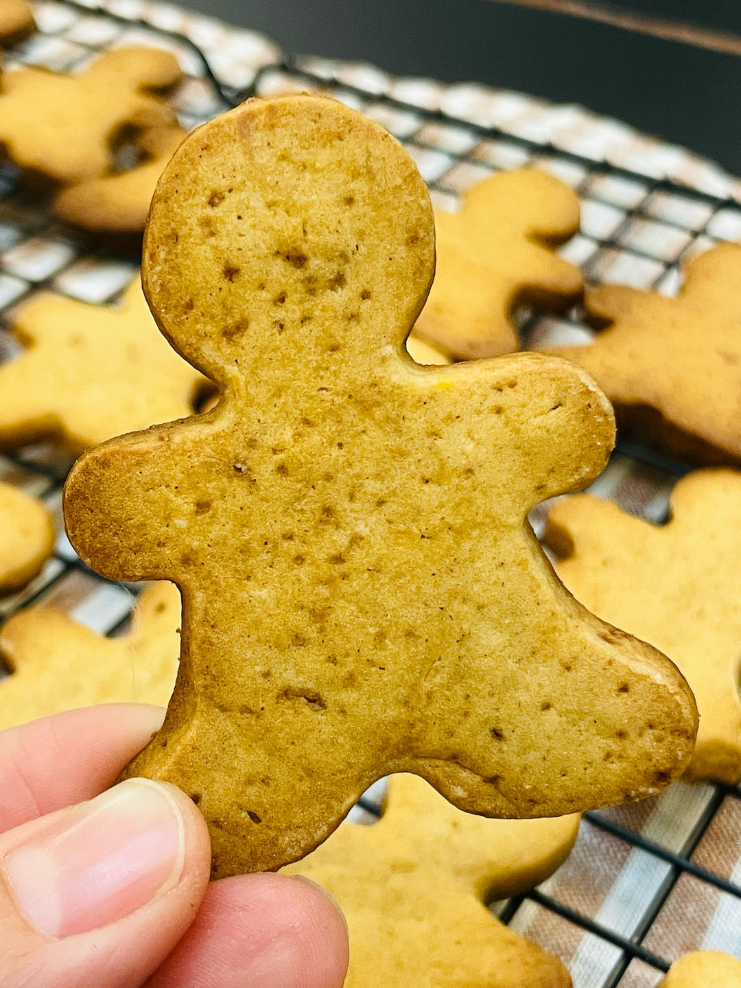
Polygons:
M0 594L36 576L54 547L48 509L11 484L0 483Z

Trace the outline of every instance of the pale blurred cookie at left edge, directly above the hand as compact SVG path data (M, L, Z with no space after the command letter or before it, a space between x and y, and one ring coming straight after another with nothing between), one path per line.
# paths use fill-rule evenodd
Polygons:
M63 611L19 611L0 628L0 652L13 673L0 680L0 730L93 703L165 706L180 651L180 594L147 587L128 634L106 638Z

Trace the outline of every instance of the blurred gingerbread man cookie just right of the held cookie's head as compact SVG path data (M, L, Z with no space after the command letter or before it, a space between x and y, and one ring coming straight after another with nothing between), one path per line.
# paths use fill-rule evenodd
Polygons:
M564 309L581 295L574 265L553 253L579 228L579 200L535 168L500 172L435 212L435 281L414 333L455 358L519 349L520 305Z

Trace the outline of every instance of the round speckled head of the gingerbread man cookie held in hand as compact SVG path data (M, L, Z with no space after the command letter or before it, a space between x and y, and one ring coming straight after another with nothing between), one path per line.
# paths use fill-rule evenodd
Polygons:
M307 96L250 100L197 130L160 180L144 244L163 331L221 377L241 354L304 364L400 347L433 270L411 159L377 124L348 127L334 101Z

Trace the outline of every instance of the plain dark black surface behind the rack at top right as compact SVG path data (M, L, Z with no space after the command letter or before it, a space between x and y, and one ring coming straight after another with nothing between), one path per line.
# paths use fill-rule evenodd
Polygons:
M290 54L475 80L590 109L685 144L741 174L741 2L581 0L642 31L496 0L180 0L263 32ZM558 6L561 0L550 0ZM699 43L646 33L681 23ZM708 46L709 45L709 46ZM716 50L717 47L731 50Z

